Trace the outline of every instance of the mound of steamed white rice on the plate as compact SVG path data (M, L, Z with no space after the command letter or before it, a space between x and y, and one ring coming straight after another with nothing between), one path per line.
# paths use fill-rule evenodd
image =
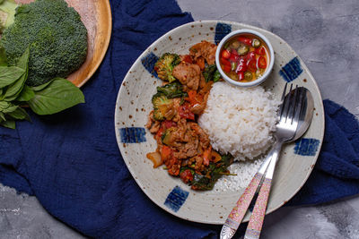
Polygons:
M231 153L238 161L258 158L273 142L278 105L263 87L248 89L217 82L198 124L221 153Z

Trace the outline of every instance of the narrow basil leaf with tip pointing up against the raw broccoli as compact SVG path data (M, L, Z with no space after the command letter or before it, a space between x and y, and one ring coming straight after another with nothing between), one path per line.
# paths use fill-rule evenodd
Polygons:
M20 95L23 85L25 84L25 81L28 78L29 54L30 54L30 51L29 51L29 48L27 48L25 50L25 52L22 54L22 56L20 56L19 61L17 62L16 66L22 68L25 71L25 73L22 74L22 77L20 77L19 80L13 82L13 84L11 84L7 88L7 90L4 94L4 100L13 101L15 98L17 98Z

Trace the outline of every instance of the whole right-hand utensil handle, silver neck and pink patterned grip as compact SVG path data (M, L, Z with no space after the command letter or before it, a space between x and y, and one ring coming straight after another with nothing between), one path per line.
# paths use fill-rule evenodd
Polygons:
M280 149L282 148L282 143L277 142L275 149L272 149L270 154L272 155L272 160L267 168L266 177L263 181L263 184L260 188L256 204L252 214L250 215L250 223L247 226L246 234L244 239L258 239L260 232L262 230L264 217L267 210L267 201L269 198L270 188L272 186L273 174L276 168L276 161L279 156Z

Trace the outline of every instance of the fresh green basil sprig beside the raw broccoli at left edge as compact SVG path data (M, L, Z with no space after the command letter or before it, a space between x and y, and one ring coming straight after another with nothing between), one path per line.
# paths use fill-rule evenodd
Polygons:
M63 78L30 87L28 78L29 48L14 66L8 66L0 48L0 125L14 129L16 120L31 121L22 105L28 105L38 115L52 115L84 103L83 92Z

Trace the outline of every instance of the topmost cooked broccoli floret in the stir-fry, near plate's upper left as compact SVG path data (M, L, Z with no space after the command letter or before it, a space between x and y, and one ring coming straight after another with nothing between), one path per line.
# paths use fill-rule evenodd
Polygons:
M176 81L176 78L172 75L172 70L177 64L180 64L180 55L165 53L154 64L154 69L160 79L172 82Z

